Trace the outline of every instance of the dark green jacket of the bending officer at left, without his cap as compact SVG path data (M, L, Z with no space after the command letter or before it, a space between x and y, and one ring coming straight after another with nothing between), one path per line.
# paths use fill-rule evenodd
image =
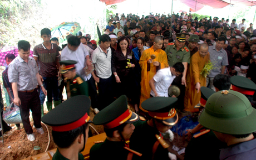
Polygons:
M85 95L89 96L88 93L88 82L83 80L78 74L71 80L67 80L67 92L70 91L71 96Z

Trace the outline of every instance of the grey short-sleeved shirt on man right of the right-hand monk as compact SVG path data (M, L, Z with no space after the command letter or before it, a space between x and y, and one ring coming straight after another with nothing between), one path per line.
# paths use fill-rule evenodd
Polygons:
M221 48L221 50L217 51L215 45L209 46L210 53L210 61L213 63L214 69L211 70L209 77L214 78L215 75L221 73L221 66L228 65L228 54L227 52Z

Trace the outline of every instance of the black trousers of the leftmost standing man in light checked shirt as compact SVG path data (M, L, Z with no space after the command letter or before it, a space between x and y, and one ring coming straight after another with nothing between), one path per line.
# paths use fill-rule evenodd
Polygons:
M36 128L41 128L41 105L40 99L35 89L33 92L19 92L19 99L21 100L21 105L19 109L21 110L21 120L23 123L24 130L27 134L32 134L33 130L29 121L29 109L32 111L32 117L34 120L34 126Z

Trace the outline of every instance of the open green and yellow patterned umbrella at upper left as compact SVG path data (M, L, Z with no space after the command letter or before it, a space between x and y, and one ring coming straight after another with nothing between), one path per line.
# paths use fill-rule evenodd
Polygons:
M58 38L58 42L62 43L69 34L76 35L76 33L81 29L80 24L77 22L62 22L60 25L56 25L51 28L52 37Z

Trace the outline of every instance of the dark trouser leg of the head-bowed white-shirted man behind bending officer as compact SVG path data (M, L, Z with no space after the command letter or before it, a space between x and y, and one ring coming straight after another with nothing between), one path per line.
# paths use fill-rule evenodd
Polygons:
M97 87L95 85L95 80L91 76L91 78L88 80L88 86L89 86L89 96L91 97L91 106L93 109L98 108L98 95L97 95Z

